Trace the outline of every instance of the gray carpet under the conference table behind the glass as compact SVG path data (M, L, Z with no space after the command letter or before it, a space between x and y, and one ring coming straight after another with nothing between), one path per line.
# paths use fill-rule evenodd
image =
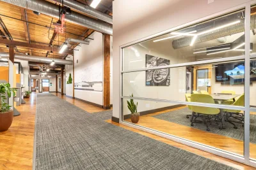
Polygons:
M155 115L153 117L159 118L161 120L166 120L168 122L173 122L175 124L186 125L191 127L190 117L186 118L186 115L189 115L189 114L191 115L191 110L189 110L188 108L182 108L180 110L169 111L166 113ZM198 118L198 120L200 120L200 118ZM226 129L219 129L218 125L212 122L212 124L209 125L209 128L210 128L209 132L212 132L214 134L220 134L223 136L228 136L230 138L239 139L243 141L244 127L242 126L242 124L236 123L236 125L238 128L234 129L234 125L228 122L225 122ZM192 128L206 131L205 124L203 123L195 123ZM250 115L250 142L256 143L256 115Z

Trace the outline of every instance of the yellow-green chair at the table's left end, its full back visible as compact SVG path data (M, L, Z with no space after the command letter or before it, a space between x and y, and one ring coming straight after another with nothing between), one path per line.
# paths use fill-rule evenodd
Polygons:
M197 103L210 103L210 104L215 104L212 96L209 94L192 94L191 95L191 102L197 102ZM202 107L202 106L192 106L191 105L191 110L192 112L192 121L191 121L191 126L194 125L195 119L199 117L200 115L203 116L204 118L204 123L206 125L206 131L210 131L209 129L209 124L211 124L212 118L214 116L218 115L220 113L220 110L217 108L207 108L207 107ZM198 115L196 115L196 113ZM195 119L194 119L195 117ZM218 119L214 118L215 121L218 121Z

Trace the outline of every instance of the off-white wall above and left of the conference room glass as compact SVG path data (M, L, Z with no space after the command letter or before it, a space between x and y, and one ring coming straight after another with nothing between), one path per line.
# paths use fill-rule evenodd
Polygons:
M207 4L207 0L113 1L113 117L119 118L119 46L248 1L215 0L211 4Z

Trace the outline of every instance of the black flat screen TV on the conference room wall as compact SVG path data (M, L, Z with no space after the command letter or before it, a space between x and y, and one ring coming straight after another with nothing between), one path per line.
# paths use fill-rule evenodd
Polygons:
M244 83L244 61L218 64L215 67L216 82L237 85ZM256 81L256 60L250 62L250 81Z

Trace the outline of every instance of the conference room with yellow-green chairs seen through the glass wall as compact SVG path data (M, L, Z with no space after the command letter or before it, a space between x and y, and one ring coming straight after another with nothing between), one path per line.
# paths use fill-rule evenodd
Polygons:
M252 7L249 46L244 9L124 46L124 124L240 156L247 97L252 108L250 158L256 159L254 11Z

